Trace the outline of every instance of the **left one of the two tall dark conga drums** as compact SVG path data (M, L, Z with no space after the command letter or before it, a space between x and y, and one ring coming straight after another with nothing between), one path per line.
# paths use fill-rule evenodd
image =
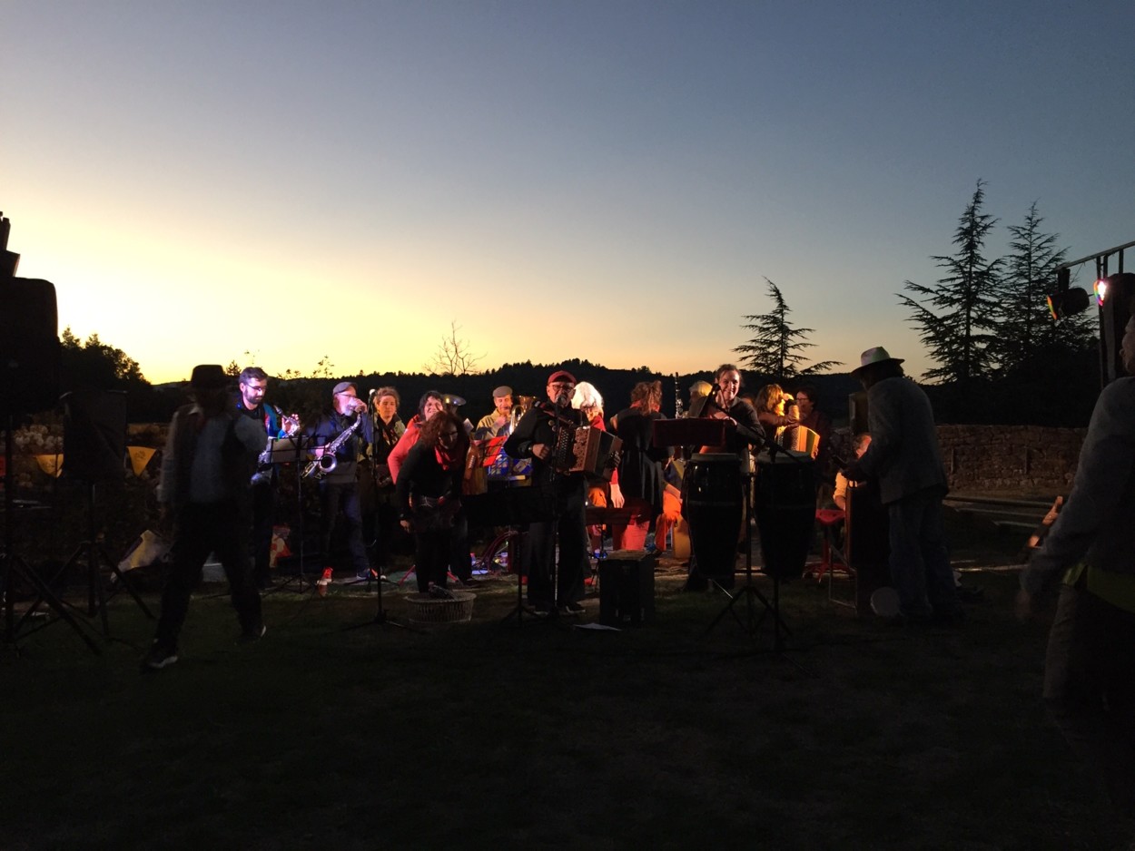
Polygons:
M741 482L741 460L733 453L698 453L686 465L682 511L690 525L690 590L708 588L709 580L733 587Z

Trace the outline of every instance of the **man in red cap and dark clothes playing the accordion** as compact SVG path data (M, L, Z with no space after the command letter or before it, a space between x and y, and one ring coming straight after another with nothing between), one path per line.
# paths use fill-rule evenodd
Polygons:
M557 471L556 440L563 432L574 440L575 429L586 426L586 416L571 406L575 394L575 377L556 370L548 377L548 402L533 405L520 418L515 430L505 441L504 450L514 458L532 460L532 486L550 496L556 505L556 520L532 523L521 553L528 572L528 601L537 616L546 616L558 607L568 615L583 612L583 574L588 566L586 495L583 473ZM555 571L556 537L560 542L560 571Z

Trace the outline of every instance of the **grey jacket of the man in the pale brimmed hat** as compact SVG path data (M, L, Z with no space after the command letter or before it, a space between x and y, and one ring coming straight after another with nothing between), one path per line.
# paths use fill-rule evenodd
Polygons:
M867 390L871 446L856 466L878 479L883 504L926 488L948 490L934 412L923 389L906 377L884 378Z

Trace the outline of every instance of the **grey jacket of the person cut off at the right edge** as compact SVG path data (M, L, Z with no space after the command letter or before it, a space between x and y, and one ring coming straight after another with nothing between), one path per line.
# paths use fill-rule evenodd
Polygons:
M1096 399L1071 495L1020 585L1036 593L1082 561L1135 573L1135 378L1112 381Z

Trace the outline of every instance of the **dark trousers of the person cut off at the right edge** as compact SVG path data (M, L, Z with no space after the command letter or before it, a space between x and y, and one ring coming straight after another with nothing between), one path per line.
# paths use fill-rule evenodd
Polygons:
M1044 702L1068 744L1135 817L1135 614L1061 585L1049 632Z

